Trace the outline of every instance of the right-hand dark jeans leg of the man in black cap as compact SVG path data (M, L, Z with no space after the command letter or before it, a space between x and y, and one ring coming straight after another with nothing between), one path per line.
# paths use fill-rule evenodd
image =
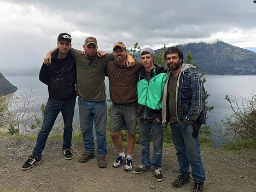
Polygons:
M65 101L61 106L61 114L64 122L63 130L63 146L65 148L71 147L72 133L73 133L73 117L74 117L75 100Z

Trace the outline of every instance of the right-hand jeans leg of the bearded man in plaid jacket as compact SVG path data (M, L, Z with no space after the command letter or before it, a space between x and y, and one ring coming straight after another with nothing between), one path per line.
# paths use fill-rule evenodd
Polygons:
M182 128L185 148L188 156L188 161L191 166L191 173L194 180L205 182L205 169L203 168L199 137L193 137L193 125L187 124Z

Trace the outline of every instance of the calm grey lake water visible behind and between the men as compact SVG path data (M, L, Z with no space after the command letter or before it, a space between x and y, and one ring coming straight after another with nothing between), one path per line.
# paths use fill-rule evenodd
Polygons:
M207 82L205 83L205 89L211 94L208 98L209 106L214 106L212 112L207 114L207 124L211 126L211 129L216 130L217 124L220 124L221 119L225 115L231 114L232 110L229 103L225 101L225 96L236 96L240 97L250 97L252 91L256 91L256 76L252 75L242 75L242 76L232 76L232 75L205 75ZM11 84L18 87L18 91L15 92L19 95L20 92L30 93L32 90L33 100L37 102L46 101L48 98L47 86L41 83L37 76L20 76L20 77L7 77ZM106 78L106 94L109 98L108 90L108 79ZM78 106L76 105L76 109ZM75 120L78 120L78 110L75 110ZM214 133L218 134L218 133ZM221 143L218 137L213 137L216 144Z

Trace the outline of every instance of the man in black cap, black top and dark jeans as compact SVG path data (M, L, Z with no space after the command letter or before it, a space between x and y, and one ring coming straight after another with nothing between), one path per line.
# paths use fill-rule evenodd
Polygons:
M39 80L48 85L49 98L44 109L44 120L37 137L37 144L22 170L29 170L42 161L48 135L53 128L57 115L61 112L64 121L62 152L65 159L73 158L71 153L72 123L75 106L76 65L69 54L71 35L61 33L57 38L57 47L53 53L51 65L42 65Z

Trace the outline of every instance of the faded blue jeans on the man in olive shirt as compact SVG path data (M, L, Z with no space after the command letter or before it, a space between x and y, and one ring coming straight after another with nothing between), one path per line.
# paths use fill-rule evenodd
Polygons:
M86 101L82 97L78 98L80 130L83 136L84 149L86 152L94 153L94 132L95 126L97 138L97 154L104 156L107 154L107 103L104 101ZM94 126L93 126L94 125Z

